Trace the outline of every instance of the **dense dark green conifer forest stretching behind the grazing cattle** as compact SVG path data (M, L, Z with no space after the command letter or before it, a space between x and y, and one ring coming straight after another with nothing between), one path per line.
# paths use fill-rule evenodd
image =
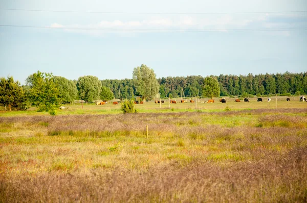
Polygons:
M228 95L299 95L307 92L307 72L276 73L248 75L210 75L220 84L221 96ZM202 96L205 77L191 75L187 77L162 77L158 79L161 97ZM126 95L136 95L137 91L132 79L102 80L102 86L113 91L115 98L125 98ZM166 93L166 94L165 94Z

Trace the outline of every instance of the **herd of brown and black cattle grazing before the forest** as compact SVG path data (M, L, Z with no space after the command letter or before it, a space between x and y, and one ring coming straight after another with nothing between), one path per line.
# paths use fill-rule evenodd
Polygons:
M289 102L290 98L287 98L286 100L287 100L287 102ZM300 102L307 102L307 100L304 96L300 96L299 101ZM220 102L226 103L226 99L222 98L222 99L220 99ZM240 99L235 99L234 102L241 102L241 101L240 101ZM250 99L244 98L244 102L250 102ZM262 98L257 98L257 102L262 102ZM271 102L271 98L268 98L268 102ZM135 104L143 104L143 101L142 102L135 101L134 103ZM160 104L160 100L155 100L155 103ZM181 100L180 103L185 103L185 100ZM190 103L195 103L195 101L191 99ZM205 101L203 103L214 103L214 99L209 99L208 101ZM106 100L104 100L103 102L97 102L96 103L96 105L105 105L105 104L107 104ZM119 102L113 102L112 104L118 105ZM161 100L161 104L164 104L164 100ZM177 102L176 102L176 100L170 100L170 104L177 104Z

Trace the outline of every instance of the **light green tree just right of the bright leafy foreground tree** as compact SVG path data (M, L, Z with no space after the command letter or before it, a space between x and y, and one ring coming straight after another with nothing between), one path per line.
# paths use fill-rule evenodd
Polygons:
M59 90L59 97L62 99L62 103L73 103L78 94L77 86L74 81L55 76L53 77L53 82Z

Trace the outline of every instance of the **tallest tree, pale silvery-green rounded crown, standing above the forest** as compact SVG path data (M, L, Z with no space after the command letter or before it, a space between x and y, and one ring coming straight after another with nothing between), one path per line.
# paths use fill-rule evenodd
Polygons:
M159 83L153 69L142 64L133 70L133 79L135 80L137 92L144 99L151 99L159 92Z

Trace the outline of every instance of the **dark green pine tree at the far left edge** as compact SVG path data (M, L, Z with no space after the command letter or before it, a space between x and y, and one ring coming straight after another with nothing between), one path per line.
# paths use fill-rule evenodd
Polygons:
M26 109L26 97L23 87L18 81L14 81L13 77L0 78L0 104L17 110Z

